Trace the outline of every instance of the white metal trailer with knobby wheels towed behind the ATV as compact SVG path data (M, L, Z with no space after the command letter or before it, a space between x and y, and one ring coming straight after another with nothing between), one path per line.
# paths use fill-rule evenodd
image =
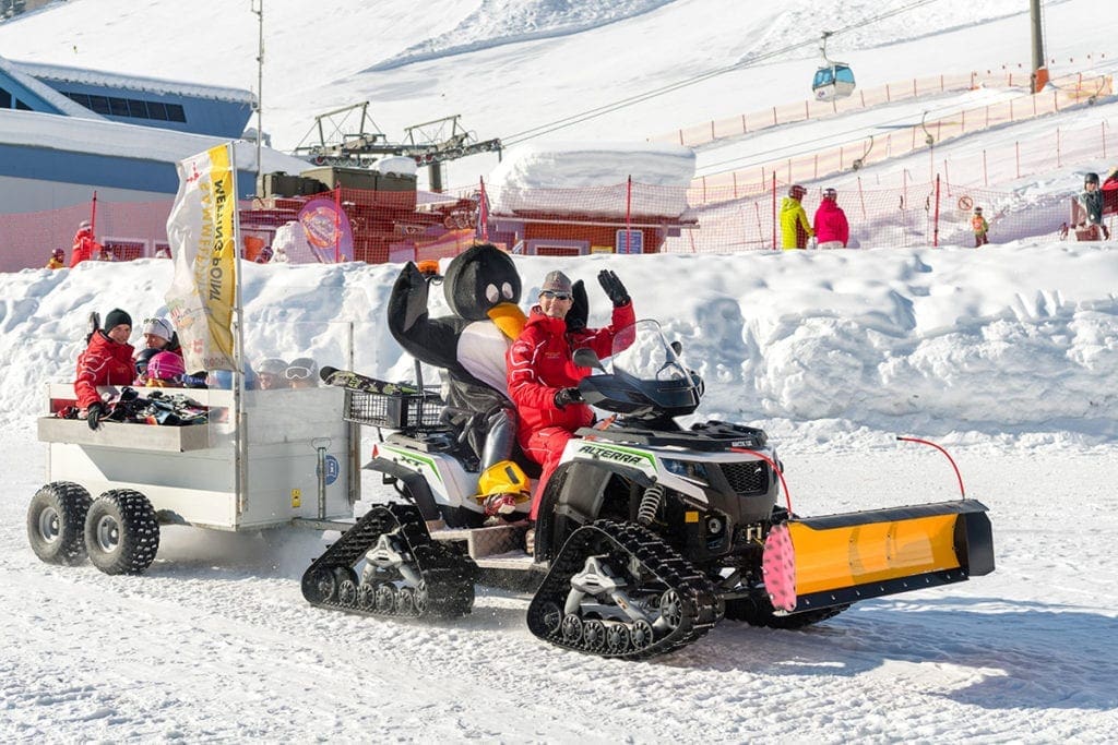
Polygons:
M47 484L27 515L42 561L76 564L88 555L106 573L139 574L155 557L160 525L243 532L352 524L360 430L338 416L341 389L136 390L184 394L209 408L209 423L105 421L91 430L85 420L54 416L75 394L68 383L50 383L51 413L38 420Z

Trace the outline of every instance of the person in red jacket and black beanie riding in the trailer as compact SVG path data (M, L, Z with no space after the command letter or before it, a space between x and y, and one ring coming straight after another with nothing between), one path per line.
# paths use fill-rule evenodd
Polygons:
M135 378L132 362L132 316L113 308L105 316L102 328L89 335L89 344L77 357L77 378L74 393L77 405L85 410L89 429L97 429L108 410L97 393L98 385L131 385Z

